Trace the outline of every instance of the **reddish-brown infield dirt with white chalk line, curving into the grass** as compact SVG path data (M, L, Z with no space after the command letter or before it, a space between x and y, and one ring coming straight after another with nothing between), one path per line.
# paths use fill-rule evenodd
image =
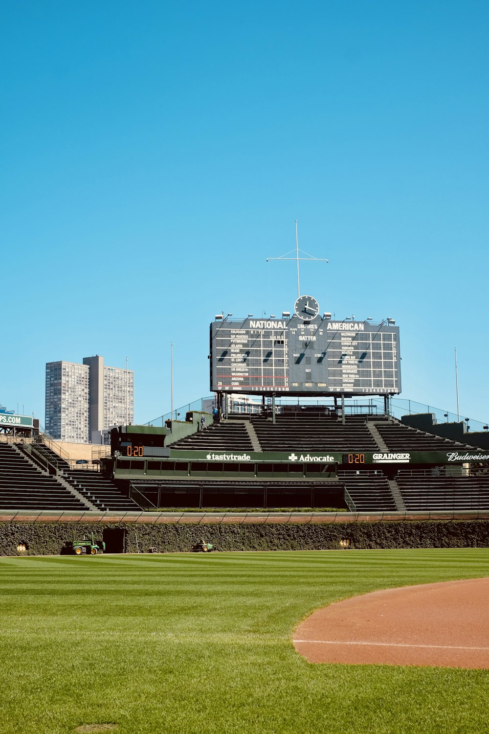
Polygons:
M331 604L298 626L294 645L311 663L489 669L489 578Z

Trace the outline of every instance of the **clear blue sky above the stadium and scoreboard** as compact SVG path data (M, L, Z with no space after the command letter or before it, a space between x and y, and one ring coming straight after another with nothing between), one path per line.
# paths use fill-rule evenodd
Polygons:
M0 403L135 371L136 421L209 393L208 324L393 316L402 398L489 419L482 1L1 4Z

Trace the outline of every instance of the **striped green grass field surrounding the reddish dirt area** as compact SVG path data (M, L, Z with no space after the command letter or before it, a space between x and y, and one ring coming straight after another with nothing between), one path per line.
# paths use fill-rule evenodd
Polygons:
M312 665L326 604L489 575L489 549L0 559L0 732L467 733L489 671Z

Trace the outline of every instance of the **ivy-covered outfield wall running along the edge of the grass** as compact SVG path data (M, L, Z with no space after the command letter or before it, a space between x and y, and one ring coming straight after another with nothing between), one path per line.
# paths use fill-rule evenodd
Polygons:
M340 548L484 548L489 520L409 520L361 523L0 523L1 556L45 556L89 538L114 542L128 553L191 551L203 537L218 551L312 551ZM120 531L117 533L117 531ZM122 531L122 532L121 532ZM112 541L111 541L112 539ZM19 551L18 546L25 546ZM108 547L109 550L109 547Z

